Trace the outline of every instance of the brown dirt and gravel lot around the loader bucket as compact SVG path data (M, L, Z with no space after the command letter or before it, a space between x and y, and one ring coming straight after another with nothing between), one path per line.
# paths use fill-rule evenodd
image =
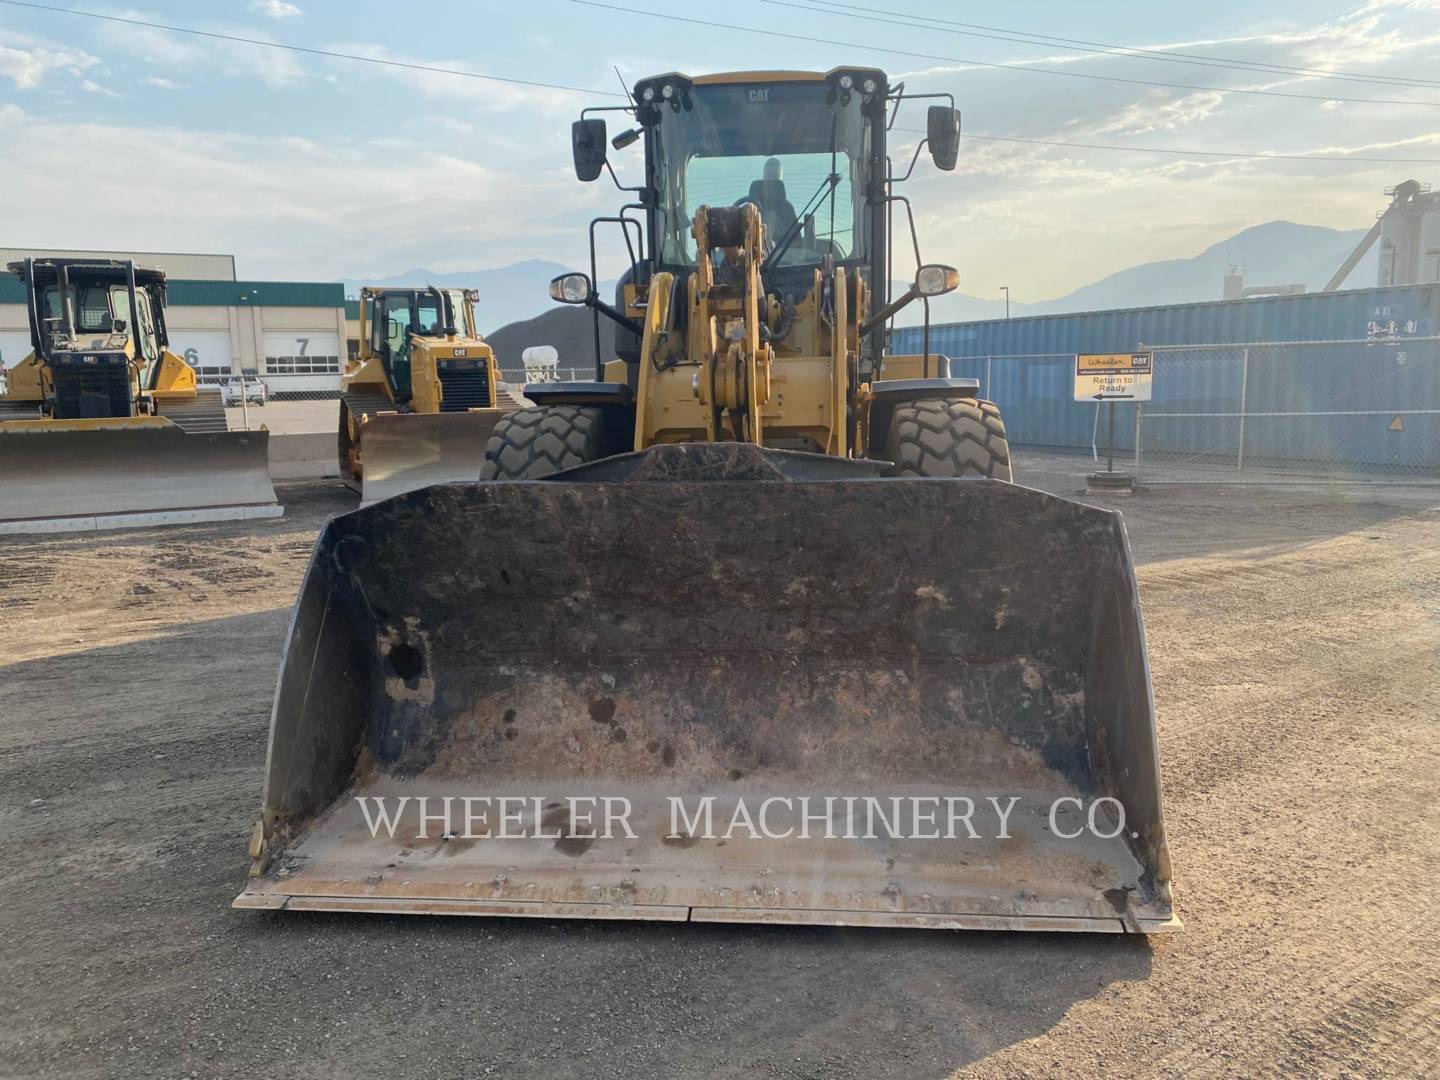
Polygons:
M284 497L0 544L0 1074L1437 1074L1440 491L1119 504L1187 923L1156 939L230 910L288 605L351 501Z

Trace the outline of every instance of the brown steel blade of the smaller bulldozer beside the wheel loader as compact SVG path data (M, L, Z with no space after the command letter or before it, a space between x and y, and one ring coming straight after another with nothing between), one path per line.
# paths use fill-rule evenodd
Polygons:
M360 428L360 505L431 484L474 482L503 409L370 416Z

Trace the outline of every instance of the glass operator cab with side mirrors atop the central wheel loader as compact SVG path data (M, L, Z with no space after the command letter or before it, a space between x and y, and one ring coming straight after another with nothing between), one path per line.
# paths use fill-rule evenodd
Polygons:
M914 285L890 301L890 217L900 203L909 220L909 202L893 192L909 177L896 176L887 156L887 128L903 99L945 98L929 107L926 138L936 167L952 170L956 161L960 117L949 94L906 94L874 68L835 68L829 72L739 72L687 76L678 72L642 79L635 85L634 104L586 109L572 130L576 176L595 180L611 168L608 147L622 150L644 140L645 177L636 203L616 222L625 230L631 269L622 276L616 302L605 304L593 292L592 274L557 278L552 297L566 304L586 304L616 323L615 348L634 364L639 350L639 320L645 288L661 271L671 272L684 295L687 279L700 259L708 259L717 281L732 268L723 266L724 249L696 251L694 222L701 207L737 207L746 203L760 210L763 304L780 312L776 325L792 325L798 304L815 291L815 275L829 282L837 269L855 297L864 295L865 320L861 369L874 364L886 350L884 324L899 308L917 298L955 288L955 272L926 264L913 240L917 266ZM606 124L596 111L634 114L638 127L606 138ZM913 170L914 160L910 161ZM612 176L613 176L613 170ZM616 184L619 180L616 179ZM629 216L629 212L642 212ZM631 243L631 228L644 242ZM592 253L593 264L593 253ZM937 282L937 284L936 284ZM822 285L824 291L827 285ZM815 297L822 307L824 297ZM681 314L684 317L684 314ZM926 308L926 320L929 308ZM773 327L772 327L773 330ZM599 331L596 323L596 377L599 379ZM785 337L779 333L778 337ZM778 340L770 337L770 340ZM926 354L929 350L926 350Z

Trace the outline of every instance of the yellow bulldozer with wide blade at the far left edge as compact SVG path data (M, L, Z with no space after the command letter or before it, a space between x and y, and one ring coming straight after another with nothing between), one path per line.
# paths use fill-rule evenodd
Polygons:
M32 351L0 395L0 533L279 517L269 433L226 429L219 387L170 351L166 275L24 259Z

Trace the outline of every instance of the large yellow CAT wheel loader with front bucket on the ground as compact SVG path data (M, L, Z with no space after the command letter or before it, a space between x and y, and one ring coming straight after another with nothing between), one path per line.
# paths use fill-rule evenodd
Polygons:
M901 173L887 137L924 96ZM572 148L638 192L596 219L629 271L599 298L592 242L552 285L615 356L527 384L481 482L328 524L235 904L1179 929L1120 517L1014 482L999 409L929 350L958 274L913 223L887 284L896 189L924 147L955 167L953 99L871 68L668 73L625 111ZM894 354L916 301L923 350Z

